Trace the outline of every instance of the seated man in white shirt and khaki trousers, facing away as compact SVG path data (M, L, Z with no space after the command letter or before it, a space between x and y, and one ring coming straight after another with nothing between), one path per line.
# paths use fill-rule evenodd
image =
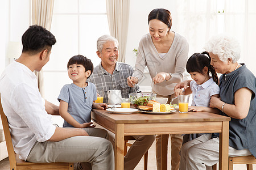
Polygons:
M42 99L33 71L40 71L49 61L55 43L51 32L30 26L22 36L21 56L0 78L1 101L14 151L29 162L86 162L89 169L114 169L113 147L106 131L51 124L49 114L59 114L59 107ZM82 169L82 164L77 168Z

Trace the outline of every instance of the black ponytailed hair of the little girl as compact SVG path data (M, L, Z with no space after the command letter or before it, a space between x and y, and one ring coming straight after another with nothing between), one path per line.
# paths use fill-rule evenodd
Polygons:
M207 54L205 56L204 54ZM208 74L212 74L212 78L216 84L218 84L218 76L212 65L210 65L210 55L208 52L195 53L190 58L188 58L186 69L188 73L198 72L203 73L204 67L208 67Z

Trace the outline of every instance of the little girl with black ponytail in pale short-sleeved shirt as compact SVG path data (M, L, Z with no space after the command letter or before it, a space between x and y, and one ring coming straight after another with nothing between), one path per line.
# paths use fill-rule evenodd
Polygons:
M207 56L205 56L207 54ZM210 97L219 97L220 88L218 87L218 76L214 67L210 65L210 57L208 52L195 53L187 61L186 69L193 79L190 88L183 92L180 88L175 90L175 96L189 95L192 93L193 101L188 111L194 112L220 112L216 108L209 108ZM212 77L210 76L210 74ZM185 134L183 143L191 141L203 134Z

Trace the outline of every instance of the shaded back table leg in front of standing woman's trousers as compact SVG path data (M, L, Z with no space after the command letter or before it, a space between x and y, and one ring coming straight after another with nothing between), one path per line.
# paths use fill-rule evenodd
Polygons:
M167 170L167 159L168 159L168 139L169 135L161 135L161 165L162 165L162 170Z

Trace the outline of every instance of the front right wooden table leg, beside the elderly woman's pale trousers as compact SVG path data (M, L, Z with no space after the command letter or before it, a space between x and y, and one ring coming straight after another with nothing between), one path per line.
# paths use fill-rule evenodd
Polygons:
M222 122L220 133L219 169L228 169L229 164L229 121Z

